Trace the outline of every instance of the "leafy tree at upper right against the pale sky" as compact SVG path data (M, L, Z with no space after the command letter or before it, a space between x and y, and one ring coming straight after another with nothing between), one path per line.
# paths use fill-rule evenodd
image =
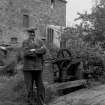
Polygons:
M78 13L79 17L76 20L81 20L82 29L87 31L88 35L85 40L90 41L91 44L97 44L105 40L105 1L95 5L92 12L88 14Z

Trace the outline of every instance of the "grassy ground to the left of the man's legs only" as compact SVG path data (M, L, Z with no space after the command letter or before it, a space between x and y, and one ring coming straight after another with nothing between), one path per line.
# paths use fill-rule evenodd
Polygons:
M22 74L0 77L0 105L24 105L25 89Z

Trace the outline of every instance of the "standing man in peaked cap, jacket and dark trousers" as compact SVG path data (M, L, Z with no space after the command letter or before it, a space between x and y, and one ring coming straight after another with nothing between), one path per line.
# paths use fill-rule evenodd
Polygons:
M45 88L42 82L43 55L46 48L42 40L36 38L35 29L27 30L29 38L23 42L24 63L23 73L27 89L28 101L33 98L34 80L37 87L37 103L44 105ZM31 102L32 103L32 102Z

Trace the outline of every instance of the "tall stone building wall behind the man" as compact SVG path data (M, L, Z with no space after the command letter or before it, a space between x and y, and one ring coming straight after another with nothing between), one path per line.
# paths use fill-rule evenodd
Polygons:
M46 36L48 24L66 26L65 0L0 0L0 43L22 42L29 27Z

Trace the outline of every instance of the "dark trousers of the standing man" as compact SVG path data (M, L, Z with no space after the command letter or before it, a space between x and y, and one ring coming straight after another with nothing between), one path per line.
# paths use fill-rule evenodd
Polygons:
M44 105L45 88L42 81L42 71L23 71L28 100L33 99L34 81L37 89L37 105Z

